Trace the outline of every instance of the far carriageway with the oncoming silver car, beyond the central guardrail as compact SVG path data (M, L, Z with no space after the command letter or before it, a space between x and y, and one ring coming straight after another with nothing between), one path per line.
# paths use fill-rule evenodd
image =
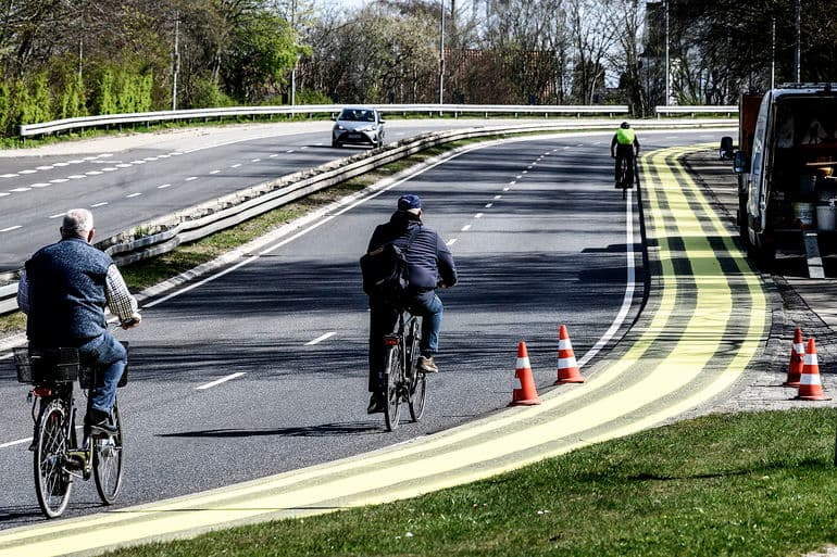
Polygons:
M526 121L515 122L525 123ZM386 142L482 121L391 121ZM330 122L257 124L221 130L114 138L89 152L72 143L0 156L0 274L52 241L60 217L96 212L97 239L279 176L365 150L330 147ZM154 142L142 141L151 139ZM101 145L104 144L104 148ZM10 154L9 152L2 154Z

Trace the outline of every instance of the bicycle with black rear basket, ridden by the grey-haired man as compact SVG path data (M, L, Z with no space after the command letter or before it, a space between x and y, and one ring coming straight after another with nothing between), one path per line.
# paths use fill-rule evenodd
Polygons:
M125 349L128 345L123 342ZM87 391L89 410L93 390L102 381L99 369L83 366L78 350L18 347L14 350L17 381L33 384L27 395L35 422L33 444L38 505L47 518L60 517L70 503L75 478L96 481L104 505L118 495L123 474L122 419L116 402L108 420L111 431L84 426L78 444L74 382ZM127 383L127 366L118 387ZM37 408L37 410L36 410ZM36 415L37 414L37 415Z

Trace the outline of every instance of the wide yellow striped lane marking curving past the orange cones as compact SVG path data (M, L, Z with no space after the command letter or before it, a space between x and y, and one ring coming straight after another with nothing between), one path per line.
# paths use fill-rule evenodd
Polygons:
M645 157L657 172L653 176L646 169L642 191L648 194L649 237L659 246L654 254L662 269L659 305L632 331L636 341L625 354L584 385L546 393L540 406L509 409L367 455L140 507L0 532L0 556L63 555L403 498L639 431L723 392L763 343L766 301L759 278L700 190L667 162L687 151L663 150ZM722 252L715 252L709 236L723 243ZM679 243L682 251L675 248ZM738 273L725 274L722 257ZM686 261L690 273L678 275L677 262ZM740 315L742 305L746 319ZM727 325L736 318L740 327L728 333ZM719 347L730 342L734 355L713 362ZM513 355L509 358L511 365ZM703 380L698 381L701 375ZM626 378L633 382L616 389L614 383ZM691 392L677 395L690 384L696 384ZM666 397L671 402L663 404ZM583 398L590 402L579 405ZM636 417L628 417L632 413ZM101 535L103 528L107 536Z

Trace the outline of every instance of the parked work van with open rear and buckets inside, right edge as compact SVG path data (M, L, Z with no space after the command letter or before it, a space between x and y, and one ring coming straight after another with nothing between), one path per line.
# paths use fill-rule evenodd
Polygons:
M837 84L783 85L764 93L752 117L741 103L738 225L748 253L804 252L815 230L821 251L836 252ZM749 150L749 152L748 152Z

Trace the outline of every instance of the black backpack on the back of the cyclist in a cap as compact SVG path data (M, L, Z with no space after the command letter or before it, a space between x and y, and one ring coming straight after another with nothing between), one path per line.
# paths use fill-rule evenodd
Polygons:
M407 252L421 228L413 228L403 248L389 242L361 257L363 291L366 295L387 305L401 305L410 286Z

